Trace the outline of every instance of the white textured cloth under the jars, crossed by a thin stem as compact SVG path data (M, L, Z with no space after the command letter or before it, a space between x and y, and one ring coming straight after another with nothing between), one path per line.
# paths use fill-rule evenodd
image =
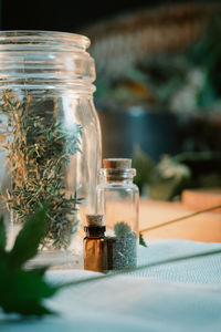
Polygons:
M139 249L139 263L207 250L221 243L151 241ZM88 271L50 271L52 282L95 276ZM6 321L1 332L45 331L221 331L221 255L197 258L71 287L46 301L59 317Z

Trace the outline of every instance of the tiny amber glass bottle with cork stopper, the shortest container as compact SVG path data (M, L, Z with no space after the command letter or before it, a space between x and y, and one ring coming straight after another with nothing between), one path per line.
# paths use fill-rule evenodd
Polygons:
M84 269L96 272L107 270L107 242L102 215L87 215L87 226L84 227Z

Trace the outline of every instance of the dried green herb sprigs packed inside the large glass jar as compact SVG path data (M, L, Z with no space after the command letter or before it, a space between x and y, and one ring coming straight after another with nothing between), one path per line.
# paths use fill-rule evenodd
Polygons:
M42 201L50 203L45 237L42 245L66 248L77 228L77 208L82 198L65 196L65 168L80 152L81 126L64 127L57 116L57 101L32 98L22 102L6 92L0 111L7 124L0 123L0 146L7 151L11 188L1 197L13 211L17 222L23 222Z

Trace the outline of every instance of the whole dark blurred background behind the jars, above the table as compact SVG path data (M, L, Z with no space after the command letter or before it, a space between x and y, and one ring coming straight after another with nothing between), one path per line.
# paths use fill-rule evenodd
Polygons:
M133 157L143 195L221 187L220 1L0 1L1 30L83 33L103 156Z

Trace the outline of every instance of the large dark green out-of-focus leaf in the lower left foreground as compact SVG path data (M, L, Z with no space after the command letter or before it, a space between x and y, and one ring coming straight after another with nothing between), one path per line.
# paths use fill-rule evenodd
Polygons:
M21 267L36 253L45 231L48 207L44 205L29 218L19 232L10 252L0 252L0 308L6 313L22 315L53 314L42 300L57 292L60 287L44 280L46 267L23 270ZM0 218L1 248L6 246L6 229Z

